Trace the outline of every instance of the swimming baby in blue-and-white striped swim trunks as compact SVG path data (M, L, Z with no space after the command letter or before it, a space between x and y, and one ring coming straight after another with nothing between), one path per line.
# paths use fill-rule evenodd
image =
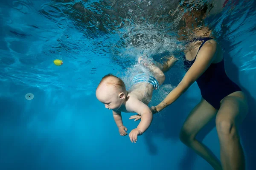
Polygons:
M160 67L146 63L143 57L138 61L148 68L150 74L136 75L132 80L131 89L126 91L122 79L112 74L105 75L96 89L97 99L105 105L105 108L113 111L113 118L121 136L127 135L121 112L137 113L141 116L137 128L129 133L130 140L134 143L137 141L137 136L142 135L150 126L153 115L148 103L151 101L153 90L163 84L165 80L163 72L168 71L175 64L176 59L169 57L165 64L158 64Z

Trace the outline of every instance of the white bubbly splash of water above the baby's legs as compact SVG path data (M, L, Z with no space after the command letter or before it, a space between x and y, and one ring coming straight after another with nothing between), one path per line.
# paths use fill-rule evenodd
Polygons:
M138 57L152 57L168 51L181 51L177 38L169 34L161 34L160 29L149 24L125 26L119 30L120 40L113 50L113 57L126 64L134 63ZM178 58L178 57L177 57Z

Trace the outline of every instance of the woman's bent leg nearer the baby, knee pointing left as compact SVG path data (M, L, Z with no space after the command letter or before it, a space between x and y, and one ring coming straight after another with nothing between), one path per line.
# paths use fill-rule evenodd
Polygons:
M180 140L205 159L215 170L221 170L216 156L195 139L197 133L216 115L217 110L204 99L191 111L180 131Z

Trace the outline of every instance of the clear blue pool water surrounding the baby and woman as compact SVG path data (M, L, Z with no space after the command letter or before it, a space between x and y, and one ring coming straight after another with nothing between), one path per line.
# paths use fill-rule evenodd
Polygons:
M224 50L228 76L249 100L250 111L239 130L247 170L255 170L256 4L254 0L229 0L225 7L224 0L212 3L205 22ZM154 115L136 144L119 135L111 111L95 96L105 74L125 79L126 68L132 68L139 55L159 59L182 50L175 38L181 18L177 4L175 0L1 0L0 170L211 169L179 140L186 116L201 99L196 83ZM55 59L63 60L63 65L55 66ZM160 102L184 74L180 59L150 105ZM34 99L27 100L28 93ZM139 123L129 120L131 115L122 115L128 132ZM214 123L198 139L219 159Z

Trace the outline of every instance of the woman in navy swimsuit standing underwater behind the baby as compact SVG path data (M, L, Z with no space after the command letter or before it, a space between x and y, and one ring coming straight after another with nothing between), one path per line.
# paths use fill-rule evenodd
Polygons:
M189 28L188 32L195 37L189 39L185 51L186 74L177 87L160 104L151 107L151 110L154 113L162 111L196 81L202 99L185 120L180 131L180 140L195 150L215 170L244 170L244 153L237 127L247 114L246 96L239 86L227 77L221 47L209 37L211 31L205 26L195 28L203 23L206 11L207 6L202 6L184 14L186 28ZM189 34L188 32L186 34ZM204 144L195 139L197 133L214 116L220 142L221 164ZM131 116L130 119L138 120L140 116Z

